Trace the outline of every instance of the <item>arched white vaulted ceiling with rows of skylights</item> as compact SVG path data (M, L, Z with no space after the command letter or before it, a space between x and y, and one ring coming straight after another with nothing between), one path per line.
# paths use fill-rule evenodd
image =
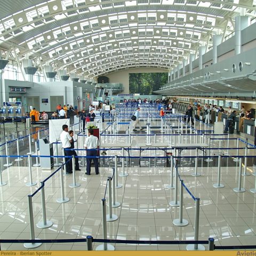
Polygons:
M1 1L2 54L89 77L177 67L199 45L211 47L213 34L231 35L236 15L254 19L256 10L256 0L9 2Z

